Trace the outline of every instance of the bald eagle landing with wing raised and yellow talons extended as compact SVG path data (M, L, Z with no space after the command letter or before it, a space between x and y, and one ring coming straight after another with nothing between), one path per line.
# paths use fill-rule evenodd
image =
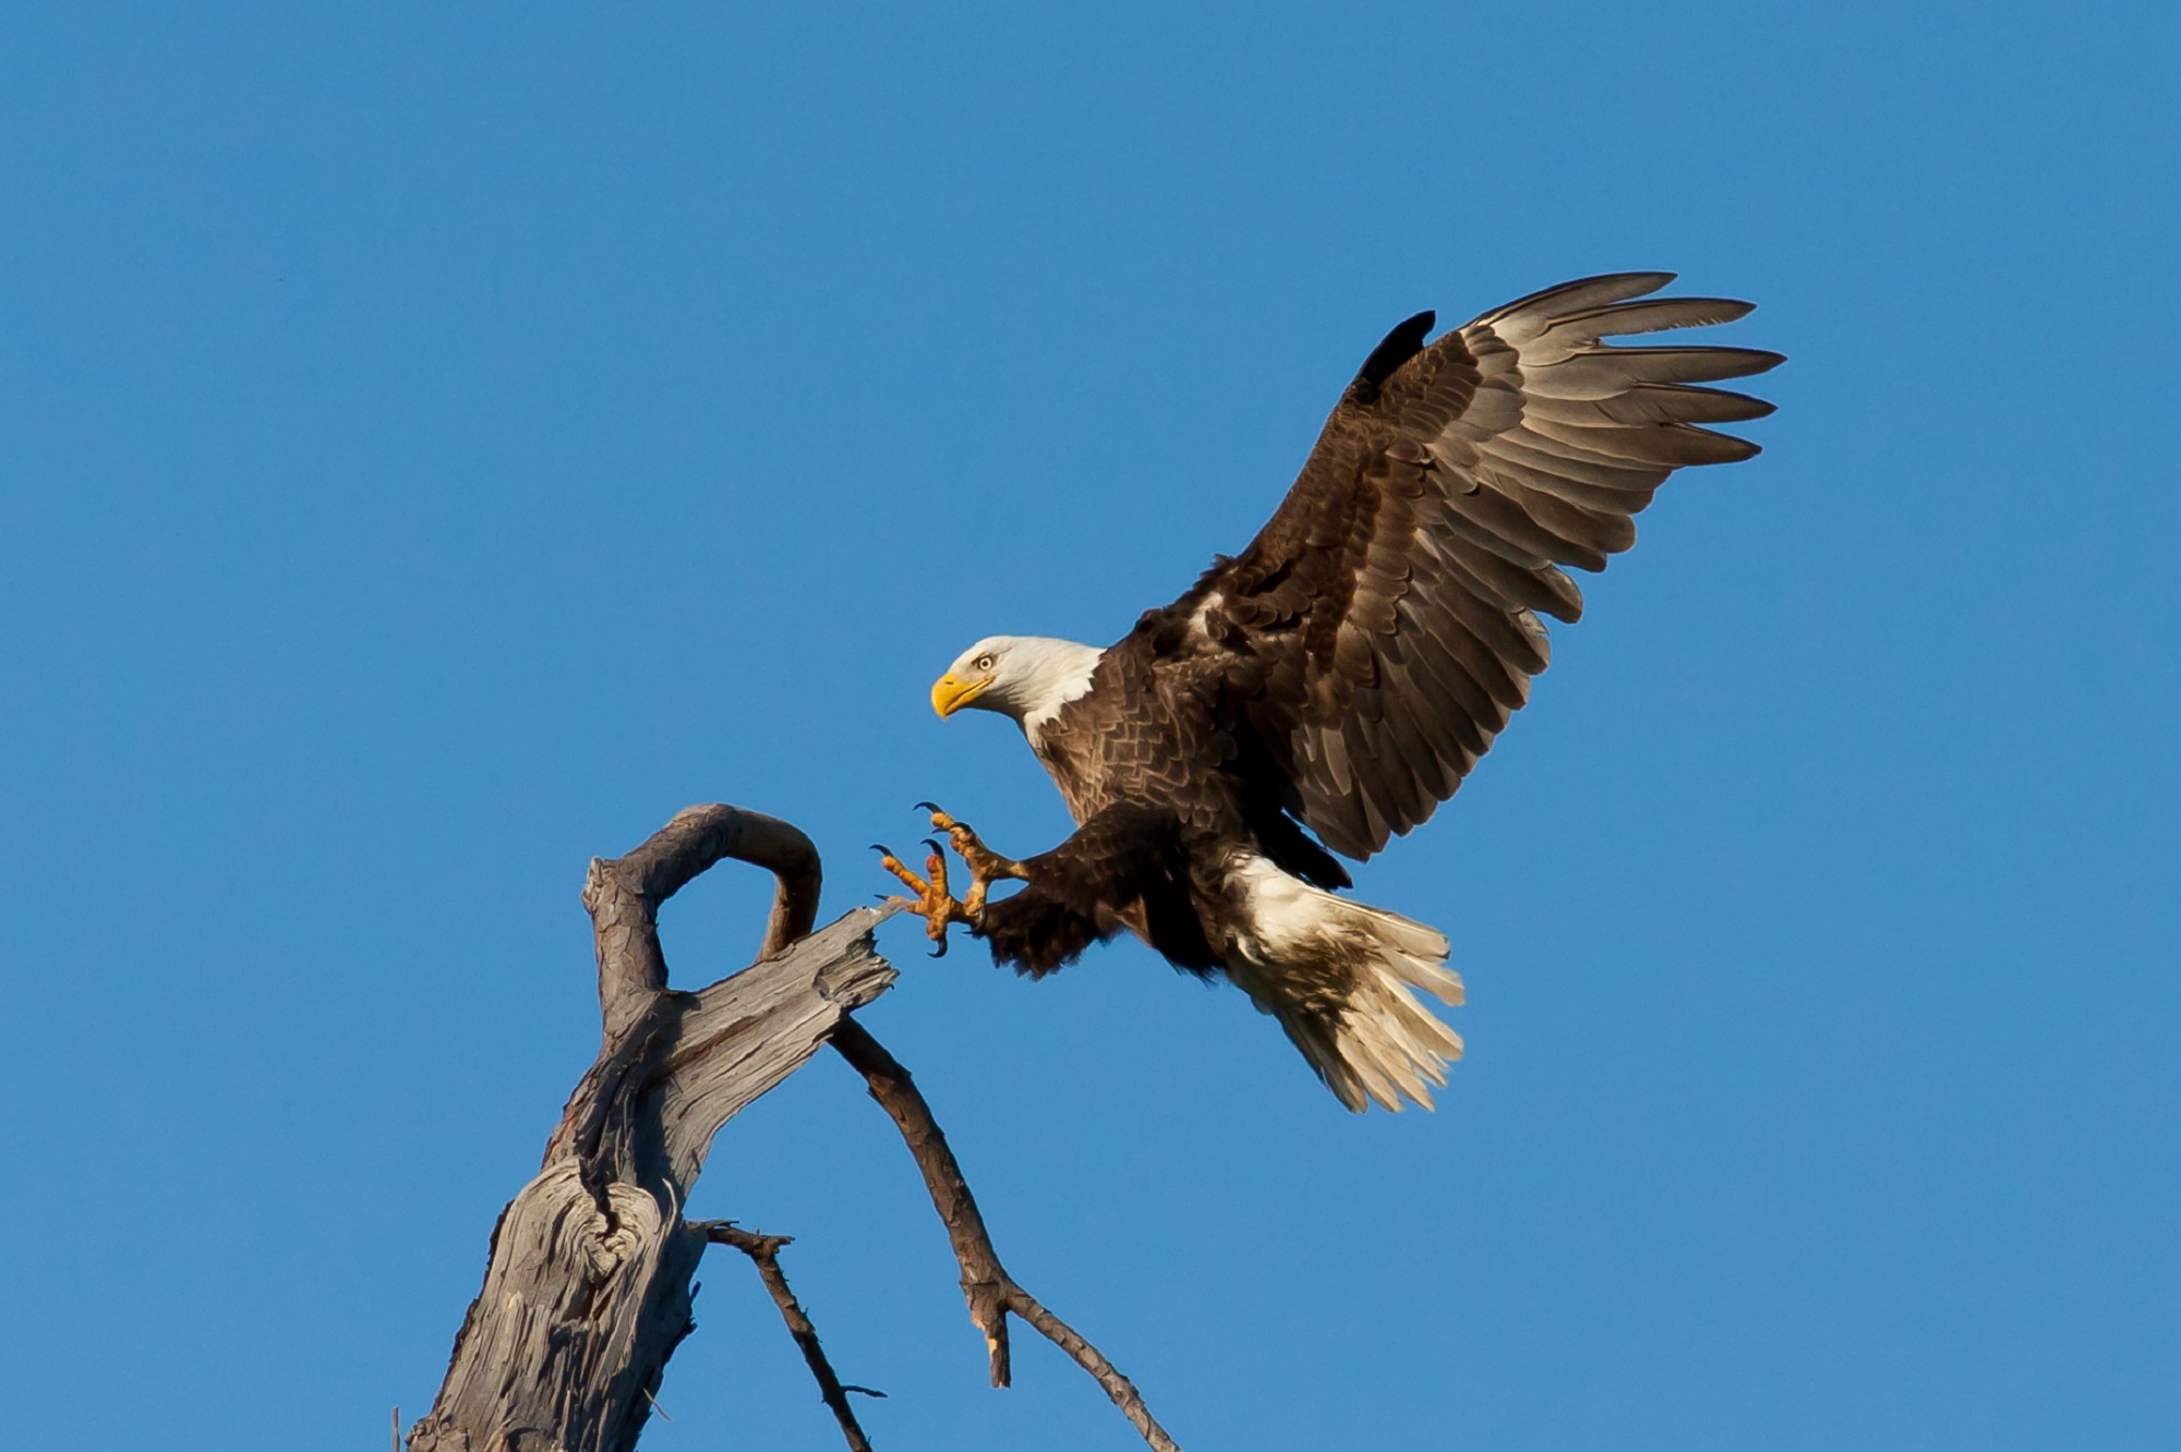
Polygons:
M997 964L1043 977L1128 929L1232 979L1350 1110L1429 1108L1461 1038L1418 990L1457 1005L1461 979L1437 929L1337 896L1339 857L1422 824L1490 750L1546 665L1540 613L1583 610L1566 565L1596 571L1636 543L1634 515L1677 467L1758 451L1701 425L1771 406L1695 384L1778 353L1607 342L1749 312L1649 297L1668 281L1588 277L1437 338L1433 314L1409 318L1239 556L1104 650L1016 634L964 650L933 709L1014 719L1077 828L1010 861L931 809L971 868L966 898L936 842L925 874L885 866L940 951L966 922ZM988 900L1001 879L1025 885Z

